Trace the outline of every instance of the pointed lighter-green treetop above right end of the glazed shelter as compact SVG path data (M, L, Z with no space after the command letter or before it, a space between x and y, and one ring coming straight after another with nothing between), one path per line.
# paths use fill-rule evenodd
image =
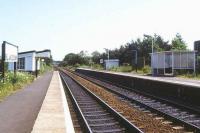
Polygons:
M186 50L187 49L187 45L179 33L177 33L176 37L173 38L173 40L172 40L172 49L173 50Z

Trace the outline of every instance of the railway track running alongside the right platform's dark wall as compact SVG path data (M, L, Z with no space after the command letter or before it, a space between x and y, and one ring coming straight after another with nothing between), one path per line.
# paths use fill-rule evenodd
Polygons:
M137 107L142 111L146 112L147 110L150 110L151 112L173 121L175 124L184 126L190 131L200 132L200 115L196 110L178 105L177 103L123 89L122 87L113 85L110 82L98 80L94 77L89 77L80 73L74 74L107 89L119 96L122 100L131 102L134 107Z

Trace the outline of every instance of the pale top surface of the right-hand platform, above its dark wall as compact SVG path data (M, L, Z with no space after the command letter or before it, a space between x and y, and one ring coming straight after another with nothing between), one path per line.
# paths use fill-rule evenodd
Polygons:
M80 69L85 69L85 68L80 68ZM85 70L99 71L99 72L104 72L104 73L111 73L111 74L147 79L147 80L152 80L152 81L160 81L160 82L165 82L165 83L172 83L172 84L186 85L186 86L193 86L193 87L200 88L200 80L195 80L195 79L185 79L185 78L179 78L179 77L145 76L145 75L139 75L139 74L134 74L134 73L112 72L112 71L106 71L106 70L93 70L93 69L85 69Z

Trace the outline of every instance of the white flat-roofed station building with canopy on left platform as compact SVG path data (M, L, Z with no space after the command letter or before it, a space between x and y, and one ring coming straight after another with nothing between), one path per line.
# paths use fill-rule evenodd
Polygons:
M40 70L40 63L43 58L50 58L51 51L26 51L18 53L17 69L19 71L36 72ZM13 70L14 64L8 63L8 70Z

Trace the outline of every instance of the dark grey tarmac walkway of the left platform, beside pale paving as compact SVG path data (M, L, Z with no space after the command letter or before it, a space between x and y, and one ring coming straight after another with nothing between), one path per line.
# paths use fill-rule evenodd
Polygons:
M0 103L0 133L30 133L46 95L52 72Z

